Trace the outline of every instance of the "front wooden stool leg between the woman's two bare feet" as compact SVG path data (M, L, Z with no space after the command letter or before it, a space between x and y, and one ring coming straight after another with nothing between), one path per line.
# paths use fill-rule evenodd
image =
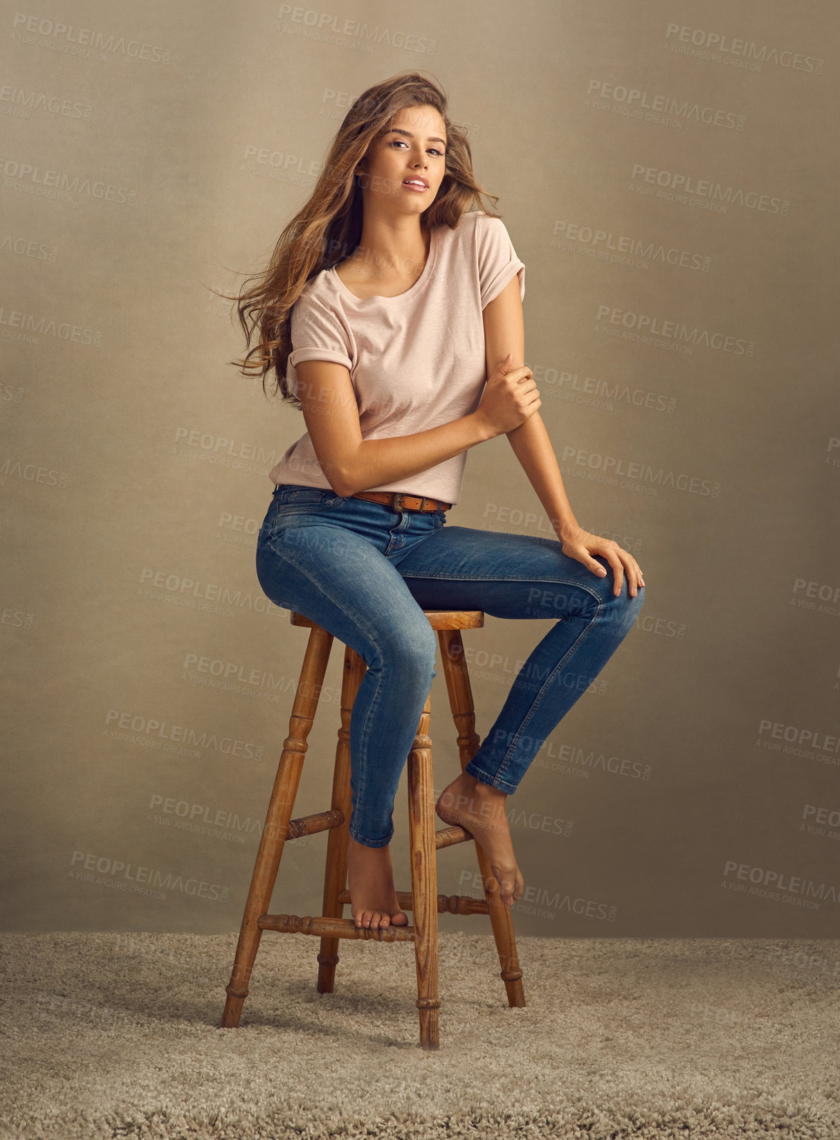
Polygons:
M434 841L432 750L426 735L431 693L408 755L408 824L411 849L411 910L417 967L421 1048L440 1049L438 1011L438 852Z

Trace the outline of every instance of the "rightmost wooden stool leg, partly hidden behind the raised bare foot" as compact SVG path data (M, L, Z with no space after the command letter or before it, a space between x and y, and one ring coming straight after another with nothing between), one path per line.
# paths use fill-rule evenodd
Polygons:
M473 691L470 684L466 658L464 657L464 643L460 630L441 629L438 636L443 661L443 674L449 693L449 705L452 710L455 726L458 730L458 749L460 751L460 768L463 772L478 751L480 743L475 732ZM478 842L475 844L475 854L479 857L481 881L484 885L490 923L492 926L494 938L496 939L499 964L501 966L500 977L507 990L507 1003L521 1009L525 1004L525 995L522 990L522 970L520 969L519 955L516 953L516 936L513 931L511 907L505 906L500 902L499 885L490 870L490 860Z

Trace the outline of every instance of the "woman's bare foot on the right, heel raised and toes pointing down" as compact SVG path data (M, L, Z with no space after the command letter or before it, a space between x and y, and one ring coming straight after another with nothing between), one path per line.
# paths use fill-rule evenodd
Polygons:
M445 823L464 828L484 850L499 885L499 899L513 906L525 890L516 863L511 829L505 815L507 792L481 783L466 772L452 780L438 797L434 809Z

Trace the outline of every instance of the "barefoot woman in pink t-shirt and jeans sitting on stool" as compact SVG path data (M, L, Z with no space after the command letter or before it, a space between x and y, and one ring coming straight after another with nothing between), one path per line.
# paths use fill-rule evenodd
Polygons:
M309 202L238 299L248 344L254 327L261 340L234 363L261 374L263 390L274 368L308 429L269 473L260 584L367 665L350 725L357 927L408 922L388 845L437 676L423 610L557 619L435 805L472 832L513 905L524 882L506 798L642 605L635 559L584 530L569 505L523 364L524 266L500 218L473 209L480 197L495 195L475 181L443 92L397 75L356 99ZM503 433L558 542L447 521L467 450Z

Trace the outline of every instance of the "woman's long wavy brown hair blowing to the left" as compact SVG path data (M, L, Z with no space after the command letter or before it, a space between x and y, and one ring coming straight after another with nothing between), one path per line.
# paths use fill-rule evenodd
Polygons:
M262 376L263 394L268 394L266 375L274 369L274 394L279 392L286 402L301 408L286 382L292 307L311 277L343 261L359 245L362 194L353 171L370 142L389 129L398 111L426 105L434 107L446 124L446 173L434 202L421 214L421 228L447 225L454 229L460 215L474 209L500 217L480 201L496 203L498 195L476 182L466 132L447 115L447 96L437 83L410 71L369 87L344 116L311 197L280 234L268 267L251 275L238 296L217 294L237 302L246 347L253 336L258 337L243 360L229 364L246 376Z

